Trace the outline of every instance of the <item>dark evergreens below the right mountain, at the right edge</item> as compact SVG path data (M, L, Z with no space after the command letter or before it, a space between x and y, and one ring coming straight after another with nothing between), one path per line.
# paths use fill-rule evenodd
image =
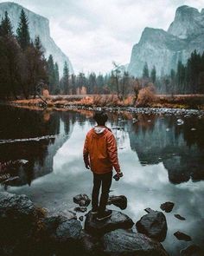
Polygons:
M204 52L191 53L186 64L177 63L177 69L171 69L168 75L156 76L156 68L150 72L148 64L143 67L143 78L155 84L157 93L164 94L203 94L204 93Z

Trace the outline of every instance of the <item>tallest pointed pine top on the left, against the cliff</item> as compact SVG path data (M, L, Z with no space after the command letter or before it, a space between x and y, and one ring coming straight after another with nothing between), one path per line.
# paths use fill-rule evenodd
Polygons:
M17 41L21 45L22 49L26 49L30 45L30 36L29 36L29 21L28 18L22 9L20 15L20 22L16 30Z

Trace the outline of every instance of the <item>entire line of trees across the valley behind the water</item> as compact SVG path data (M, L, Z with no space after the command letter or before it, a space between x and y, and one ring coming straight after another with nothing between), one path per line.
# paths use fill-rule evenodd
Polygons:
M48 60L39 36L34 42L29 35L29 21L24 10L19 17L18 28L14 34L7 12L0 23L0 98L10 99L35 97L43 82L43 89L51 95L75 94L117 94L120 100L128 94L137 98L138 91L154 85L157 93L199 94L204 92L204 53L196 50L186 64L178 62L177 69L169 75L158 76L156 67L151 70L146 62L143 75L134 77L123 67L113 62L110 74L85 75L70 74L67 62L63 74L52 55Z

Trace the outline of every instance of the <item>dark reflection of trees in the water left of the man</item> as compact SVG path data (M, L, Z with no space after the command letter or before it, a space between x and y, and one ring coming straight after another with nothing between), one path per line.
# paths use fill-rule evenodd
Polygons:
M29 163L13 175L19 175L15 185L30 184L31 181L53 171L53 158L67 137L72 133L75 115L72 113L34 112L18 108L1 109L4 118L0 139L33 138L43 135L56 135L55 138L41 141L18 141L0 145L0 161L26 159ZM1 116L0 116L1 118ZM12 121L16 124L15 128ZM21 133L19 133L21 130ZM21 135L19 138L18 136Z

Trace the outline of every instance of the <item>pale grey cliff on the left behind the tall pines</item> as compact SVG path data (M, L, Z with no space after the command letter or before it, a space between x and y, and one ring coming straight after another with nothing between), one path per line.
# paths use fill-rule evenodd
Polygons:
M16 34L22 9L28 16L31 39L34 41L35 36L40 36L42 46L46 49L45 56L48 58L51 54L54 57L54 62L58 63L61 75L64 62L67 62L70 72L73 73L73 66L69 58L61 51L56 43L54 43L53 38L50 36L48 18L35 14L35 12L22 7L22 5L18 3L3 2L0 3L0 20L4 16L5 11L7 11L13 26L13 31Z

